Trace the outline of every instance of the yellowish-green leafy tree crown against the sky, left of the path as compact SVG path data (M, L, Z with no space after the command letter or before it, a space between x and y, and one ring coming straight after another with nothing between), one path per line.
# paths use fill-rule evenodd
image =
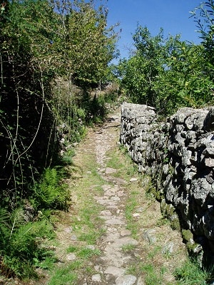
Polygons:
M108 9L94 1L51 1L57 11L61 31L54 39L61 53L61 71L76 78L81 86L98 83L115 57L117 34L107 28Z

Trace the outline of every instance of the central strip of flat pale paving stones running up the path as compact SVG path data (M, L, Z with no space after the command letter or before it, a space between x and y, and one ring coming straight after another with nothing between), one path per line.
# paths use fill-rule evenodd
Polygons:
M126 274L126 267L133 257L123 252L123 246L138 245L138 241L133 239L131 232L126 229L126 218L123 212L126 181L111 177L116 170L106 167L106 161L108 161L106 152L115 145L116 133L118 134L118 130L113 132L112 128L118 128L119 125L120 116L114 115L108 119L108 123L103 125L102 131L96 132L96 160L100 166L98 173L106 182L111 181L112 185L106 183L102 186L104 195L94 197L99 204L105 207L100 217L105 220L106 234L101 241L103 254L94 266L98 274L91 277L90 284L143 285L141 278Z

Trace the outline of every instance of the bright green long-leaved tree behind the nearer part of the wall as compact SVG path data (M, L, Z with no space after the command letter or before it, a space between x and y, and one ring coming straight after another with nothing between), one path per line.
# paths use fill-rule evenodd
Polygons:
M205 73L206 61L201 45L175 41L165 58L165 69L154 86L161 113L173 113L180 107L200 108L212 104L212 81Z

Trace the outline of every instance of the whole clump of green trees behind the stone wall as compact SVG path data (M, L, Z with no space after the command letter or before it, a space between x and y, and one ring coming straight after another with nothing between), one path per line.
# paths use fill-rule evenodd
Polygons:
M179 107L213 103L212 65L203 45L151 36L138 26L133 36L136 53L121 61L121 88L133 103L148 104L162 115Z

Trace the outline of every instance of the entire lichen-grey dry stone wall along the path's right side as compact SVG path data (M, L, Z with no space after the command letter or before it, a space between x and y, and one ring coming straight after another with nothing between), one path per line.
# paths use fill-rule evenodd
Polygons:
M180 108L161 123L153 108L123 103L120 139L190 253L213 259L214 108Z

